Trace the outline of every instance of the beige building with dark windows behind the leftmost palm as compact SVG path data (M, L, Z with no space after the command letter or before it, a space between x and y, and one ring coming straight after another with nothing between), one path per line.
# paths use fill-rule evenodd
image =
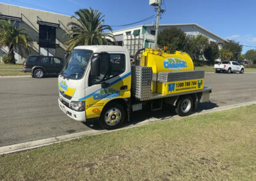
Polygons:
M31 55L56 55L64 57L65 46L63 43L68 37L67 24L71 22L70 16L51 13L47 11L34 10L0 3L0 19L15 21L19 28L27 29L27 33L33 39L33 46L30 47ZM1 48L1 56L8 53L8 48ZM15 61L22 63L28 55L21 54L15 50Z

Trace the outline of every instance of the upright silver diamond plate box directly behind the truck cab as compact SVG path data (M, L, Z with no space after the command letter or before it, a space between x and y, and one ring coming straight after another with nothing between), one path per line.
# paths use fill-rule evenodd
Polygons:
M131 66L132 96L138 99L148 98L151 95L152 68Z

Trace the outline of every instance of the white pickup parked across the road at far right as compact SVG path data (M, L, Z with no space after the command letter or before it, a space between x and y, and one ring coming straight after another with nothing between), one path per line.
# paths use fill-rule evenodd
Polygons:
M214 69L216 73L220 73L221 71L227 73L232 73L234 71L244 73L244 66L234 61L221 61L218 64L214 64Z

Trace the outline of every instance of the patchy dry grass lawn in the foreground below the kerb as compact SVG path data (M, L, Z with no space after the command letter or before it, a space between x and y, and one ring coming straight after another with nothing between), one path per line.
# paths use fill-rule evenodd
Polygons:
M256 180L256 105L0 157L0 180Z

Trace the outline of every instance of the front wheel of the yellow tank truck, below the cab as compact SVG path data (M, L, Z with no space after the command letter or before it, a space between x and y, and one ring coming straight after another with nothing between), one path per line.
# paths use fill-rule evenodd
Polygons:
M116 129L125 120L125 110L119 103L109 103L100 115L100 126L104 129Z

